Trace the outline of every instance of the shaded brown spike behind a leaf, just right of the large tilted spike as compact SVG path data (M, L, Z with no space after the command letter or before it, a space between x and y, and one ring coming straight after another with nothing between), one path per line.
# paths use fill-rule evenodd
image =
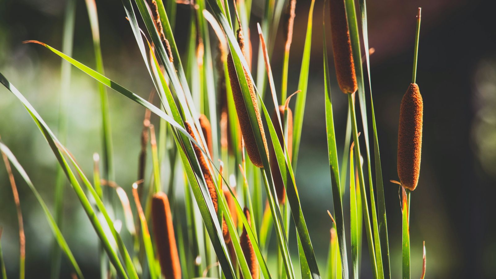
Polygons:
M272 124L274 124L274 127L276 127L276 134L277 138L279 139L279 142L281 143L281 146L284 150L284 145L282 145L282 142L284 140L284 135L281 134L281 130L279 129L279 120L277 119L277 113L279 113L279 116L281 117L282 121L282 128L285 129L284 127L284 106L279 106L278 110L274 109L274 113L272 114ZM291 111L290 108L288 108L288 153L289 157L291 158L293 154L293 112ZM277 158L276 158L276 153L274 150L274 147L270 148L270 157L269 157L269 162L270 162L270 171L272 172L272 178L274 179L274 187L276 188L276 194L277 194L277 199L279 200L280 204L284 204L286 201L286 190L284 189L284 182L282 181L282 176L281 176L281 171L279 170L279 165L277 163Z

